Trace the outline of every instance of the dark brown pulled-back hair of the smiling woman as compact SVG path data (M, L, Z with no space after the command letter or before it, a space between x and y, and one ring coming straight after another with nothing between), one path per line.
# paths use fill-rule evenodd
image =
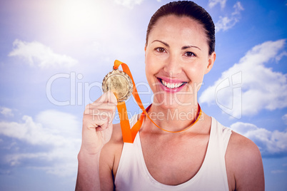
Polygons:
M163 16L175 15L175 16L188 16L191 19L198 21L202 24L206 31L207 43L209 46L209 55L213 53L215 49L215 26L208 12L193 1L173 1L166 5L161 6L153 16L148 24L146 31L146 45L148 43L148 35L156 25L158 19Z

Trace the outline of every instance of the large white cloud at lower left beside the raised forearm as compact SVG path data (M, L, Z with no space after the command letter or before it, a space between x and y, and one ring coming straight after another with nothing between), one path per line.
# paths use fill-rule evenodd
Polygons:
M0 135L18 140L19 149L13 154L4 155L11 166L30 162L30 168L45 170L59 176L76 174L76 156L81 145L81 125L79 120L69 113L46 110L36 116L36 120L25 115L22 122L0 122ZM19 141L36 146L35 152L25 152ZM39 150L39 148L43 148ZM25 149L26 150L26 149ZM38 163L42 165L31 165Z

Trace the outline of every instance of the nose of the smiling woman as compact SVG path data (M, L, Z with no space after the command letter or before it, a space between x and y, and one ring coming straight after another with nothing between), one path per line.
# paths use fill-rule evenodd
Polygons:
M176 58L176 56L169 56L166 60L163 70L168 73L170 77L176 76L177 74L181 73L182 68L179 58Z

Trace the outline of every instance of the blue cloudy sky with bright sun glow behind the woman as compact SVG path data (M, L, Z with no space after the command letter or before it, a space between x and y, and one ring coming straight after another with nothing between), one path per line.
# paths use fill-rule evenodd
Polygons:
M0 1L0 190L74 190L84 106L115 59L151 103L146 26L166 2ZM287 1L196 3L216 24L201 108L258 145L266 190L287 190Z

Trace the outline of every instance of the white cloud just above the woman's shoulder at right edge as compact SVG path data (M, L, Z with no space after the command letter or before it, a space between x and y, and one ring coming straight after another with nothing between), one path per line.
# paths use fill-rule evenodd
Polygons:
M242 122L233 123L231 129L253 140L264 157L287 155L287 131L269 131L251 123Z

